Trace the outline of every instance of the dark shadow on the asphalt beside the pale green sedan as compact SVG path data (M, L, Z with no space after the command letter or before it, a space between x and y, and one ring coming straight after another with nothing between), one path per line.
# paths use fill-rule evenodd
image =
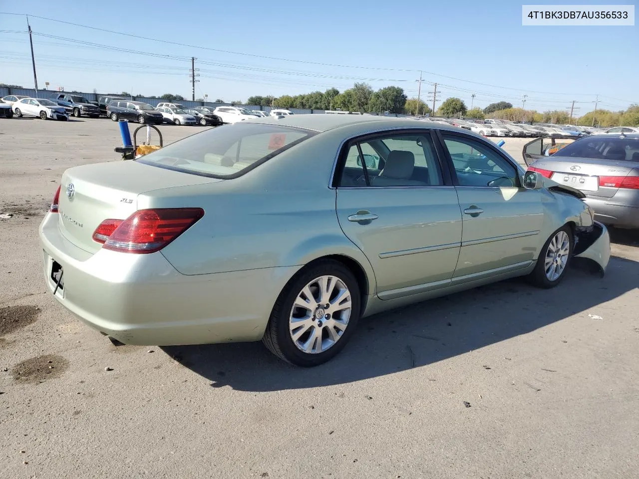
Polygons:
M578 262L558 287L516 278L361 319L350 344L328 363L305 369L260 342L162 347L211 386L265 392L315 388L384 376L446 360L561 321L637 287L639 262L612 257L601 278ZM557 341L570 338L557 337Z

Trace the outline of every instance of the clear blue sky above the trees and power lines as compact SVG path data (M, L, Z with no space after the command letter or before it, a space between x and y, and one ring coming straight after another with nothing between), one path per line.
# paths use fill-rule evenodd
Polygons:
M196 97L206 93L209 100L227 102L331 86L342 91L355 81L374 89L400 86L412 97L423 70L422 98L438 82L438 98L458 96L468 107L500 100L521 106L523 95L527 109L539 111L564 109L577 100L576 114L592 110L597 94L599 108L619 110L639 103L638 26L524 27L521 4L33 0L0 2L0 11L192 45L30 17L38 84L48 81L50 89L179 93L190 99L194 56L200 69ZM33 87L23 31L24 16L0 14L0 82Z

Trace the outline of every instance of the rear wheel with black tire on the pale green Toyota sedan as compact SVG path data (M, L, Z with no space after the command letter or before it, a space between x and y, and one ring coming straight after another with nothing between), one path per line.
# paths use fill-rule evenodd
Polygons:
M324 298L318 294L321 281L332 284L330 293ZM305 296L305 289L314 297ZM344 308L346 296L350 296L350 308ZM315 298L327 301L330 307L325 308L324 303L318 305ZM296 300L309 303L309 308L295 307ZM341 308L337 308L339 306ZM330 317L331 314L335 317ZM275 301L262 342L284 361L302 367L318 366L346 346L355 332L359 315L360 289L353 273L341 262L318 261L304 268L286 284ZM307 319L300 321L299 316L307 316ZM291 319L298 319L300 326L292 329ZM296 340L293 340L293 335L297 336ZM304 347L307 351L302 350Z

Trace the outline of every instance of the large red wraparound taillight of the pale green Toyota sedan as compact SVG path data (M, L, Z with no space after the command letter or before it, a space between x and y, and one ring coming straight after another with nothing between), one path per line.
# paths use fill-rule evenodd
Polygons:
M103 248L124 253L153 253L166 247L203 216L201 208L141 209L112 230ZM108 227L105 225L104 233ZM99 241L96 233L93 239Z

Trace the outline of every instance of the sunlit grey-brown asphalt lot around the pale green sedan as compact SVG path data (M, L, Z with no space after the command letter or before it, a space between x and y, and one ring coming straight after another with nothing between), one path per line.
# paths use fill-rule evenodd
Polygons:
M259 343L115 347L46 291L37 228L62 172L120 142L0 119L1 478L637 477L639 232L612 232L604 278L380 314L311 370Z

